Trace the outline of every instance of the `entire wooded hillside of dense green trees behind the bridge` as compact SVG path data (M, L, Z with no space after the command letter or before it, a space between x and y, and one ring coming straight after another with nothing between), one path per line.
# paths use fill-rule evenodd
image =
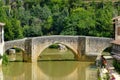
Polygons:
M5 40L43 35L113 37L120 1L0 0Z

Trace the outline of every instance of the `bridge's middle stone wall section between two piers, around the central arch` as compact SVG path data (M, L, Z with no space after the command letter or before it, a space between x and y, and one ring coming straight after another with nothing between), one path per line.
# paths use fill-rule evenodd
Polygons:
M38 56L41 52L46 49L48 46L60 43L67 46L71 49L76 57L76 59L80 58L80 54L78 51L78 37L61 37L61 36L50 36L50 37L38 37L32 39L32 61L36 62Z

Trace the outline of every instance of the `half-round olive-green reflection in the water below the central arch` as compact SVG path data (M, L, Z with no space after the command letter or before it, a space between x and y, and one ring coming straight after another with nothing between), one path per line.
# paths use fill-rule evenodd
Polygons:
M49 61L40 62L38 67L44 74L50 77L63 77L71 74L79 63L74 61Z

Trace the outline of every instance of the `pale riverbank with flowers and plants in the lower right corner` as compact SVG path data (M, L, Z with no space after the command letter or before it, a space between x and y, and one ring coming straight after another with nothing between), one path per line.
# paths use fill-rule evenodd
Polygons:
M104 56L107 61L106 67L98 68L99 72L99 80L120 80L120 74L116 72L113 66L113 57L112 56Z

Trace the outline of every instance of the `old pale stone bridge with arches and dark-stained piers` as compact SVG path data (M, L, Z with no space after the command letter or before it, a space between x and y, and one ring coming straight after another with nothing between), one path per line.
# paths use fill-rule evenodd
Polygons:
M10 48L20 48L24 51L23 60L36 62L43 50L52 44L60 43L67 46L76 59L81 56L97 56L110 47L111 38L89 36L41 36L24 38L5 42L4 52Z

